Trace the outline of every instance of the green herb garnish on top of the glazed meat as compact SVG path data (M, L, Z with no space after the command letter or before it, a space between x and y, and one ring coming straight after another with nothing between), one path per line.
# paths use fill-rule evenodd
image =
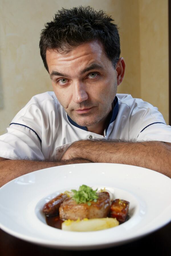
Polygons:
M91 205L90 201L97 202L98 195L96 194L96 190L92 190L92 188L82 185L79 190L71 190L74 195L72 198L76 201L76 203L87 203L87 205Z

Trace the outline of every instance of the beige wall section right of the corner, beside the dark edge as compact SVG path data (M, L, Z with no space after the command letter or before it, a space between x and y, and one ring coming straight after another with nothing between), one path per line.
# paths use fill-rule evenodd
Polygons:
M141 97L169 121L168 1L139 1Z

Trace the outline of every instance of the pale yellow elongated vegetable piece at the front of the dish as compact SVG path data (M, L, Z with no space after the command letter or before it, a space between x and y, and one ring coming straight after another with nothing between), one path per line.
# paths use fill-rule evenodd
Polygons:
M62 223L62 229L67 231L96 231L116 227L119 221L116 218L99 218L99 219L78 219L76 221L66 220Z

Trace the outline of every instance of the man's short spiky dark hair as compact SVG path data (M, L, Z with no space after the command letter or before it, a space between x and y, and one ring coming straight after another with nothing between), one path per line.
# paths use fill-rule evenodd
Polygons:
M105 53L115 68L121 50L118 28L113 21L104 11L95 11L90 6L59 10L53 21L45 24L40 35L40 55L47 71L48 49L67 53L72 47L96 39L103 44Z

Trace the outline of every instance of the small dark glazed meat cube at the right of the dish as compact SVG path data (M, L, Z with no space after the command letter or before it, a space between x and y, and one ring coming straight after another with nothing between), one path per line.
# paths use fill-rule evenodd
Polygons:
M128 216L129 202L121 199L116 199L110 207L110 217L116 218L119 223L126 221Z

